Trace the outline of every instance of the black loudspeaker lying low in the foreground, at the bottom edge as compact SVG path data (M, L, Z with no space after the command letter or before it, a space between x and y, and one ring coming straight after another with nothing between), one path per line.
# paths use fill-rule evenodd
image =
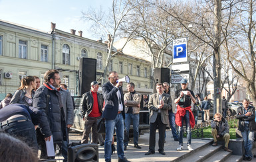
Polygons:
M98 161L98 144L88 143L68 147L68 162Z

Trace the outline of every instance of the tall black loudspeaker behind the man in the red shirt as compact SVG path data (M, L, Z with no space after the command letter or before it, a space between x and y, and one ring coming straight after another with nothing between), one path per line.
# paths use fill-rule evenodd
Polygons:
M96 81L96 63L93 58L80 58L79 62L79 95L90 91L90 83Z

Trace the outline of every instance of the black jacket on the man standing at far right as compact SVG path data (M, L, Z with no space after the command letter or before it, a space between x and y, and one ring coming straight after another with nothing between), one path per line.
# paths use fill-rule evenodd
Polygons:
M245 121L249 122L249 130L251 132L256 130L255 108L253 106L248 106L247 110L248 110L248 112L251 112L251 116L245 116L245 111L244 111L243 106L239 106L239 108L237 108L236 118L239 119L238 130L240 130L241 132L244 131Z

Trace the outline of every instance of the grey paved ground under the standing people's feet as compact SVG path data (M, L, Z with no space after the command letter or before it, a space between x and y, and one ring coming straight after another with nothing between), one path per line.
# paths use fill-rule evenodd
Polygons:
M186 146L187 139L184 138L184 150L183 151L176 151L176 148L178 147L178 142L174 141L174 138L172 138L172 131L166 130L166 143L164 145L164 151L166 152L166 155L161 155L158 153L158 132L156 133L156 153L153 155L144 155L146 152L148 152L148 146L149 146L149 133L145 133L144 135L141 135L139 137L139 145L142 147L142 149L137 149L134 147L133 141L129 142L129 145L127 147L127 150L124 151L125 157L132 162L139 162L139 161L156 161L156 162L164 162L164 161L172 161L186 153L188 153L188 149ZM70 142L79 142L82 137L82 134L72 134L72 137L70 138ZM132 138L130 140L133 140ZM201 145L204 145L205 143L210 142L210 140L201 140L201 139L192 139L192 147L193 149L200 147ZM115 147L116 147L116 142ZM100 157L99 161L104 162L104 146L98 146L98 155ZM62 161L63 157L61 155L57 156L55 159L57 161ZM112 155L112 162L117 162L118 156L117 152Z

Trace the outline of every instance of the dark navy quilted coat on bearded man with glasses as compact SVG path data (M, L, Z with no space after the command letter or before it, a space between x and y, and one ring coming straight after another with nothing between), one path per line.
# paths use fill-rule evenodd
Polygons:
M43 110L47 114L48 122L51 128L51 132L47 132L47 134L53 134L54 142L62 142L64 134L62 128L63 126L66 127L66 124L63 121L64 112L61 113L60 102L57 93L59 93L59 91L51 89L48 83L44 83L41 87L39 87L39 89L37 89L35 93L35 97L33 99L33 107L38 108L39 110ZM47 97L49 98L49 103L47 103ZM47 104L49 105L48 111L46 111Z

